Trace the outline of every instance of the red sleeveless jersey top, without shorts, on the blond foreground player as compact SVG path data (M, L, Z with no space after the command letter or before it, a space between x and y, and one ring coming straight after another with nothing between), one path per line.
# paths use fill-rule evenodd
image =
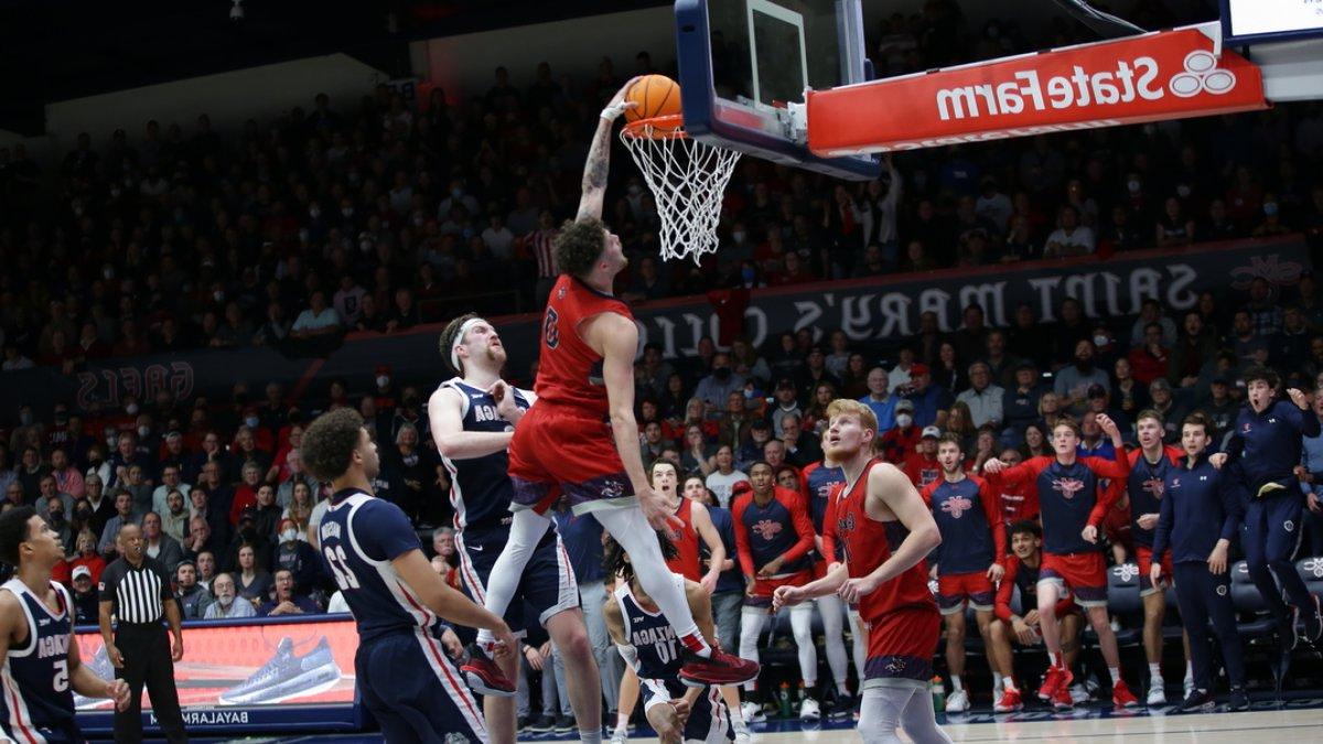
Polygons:
M864 466L853 487L841 491L836 506L835 540L843 548L851 579L868 576L892 557L909 530L900 520L877 522L868 516L864 500L868 496L868 474L882 461L873 458ZM859 600L859 614L868 622L901 609L931 609L937 612L933 592L927 588L927 561L918 561L896 579L882 584Z

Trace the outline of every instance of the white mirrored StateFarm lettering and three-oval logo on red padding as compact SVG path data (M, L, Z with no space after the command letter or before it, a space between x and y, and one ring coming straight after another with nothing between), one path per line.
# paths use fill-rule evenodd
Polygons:
M1117 60L1115 66L1089 71L1074 65L1070 75L1046 79L1039 70L1020 70L1013 81L967 85L937 91L937 115L943 122L1000 116L1049 109L1086 109L1115 106L1136 101L1162 101L1170 90L1180 98L1200 93L1221 95L1236 87L1236 73L1217 68L1211 52L1196 49L1185 54L1184 71L1171 77L1166 86L1162 69L1152 57Z

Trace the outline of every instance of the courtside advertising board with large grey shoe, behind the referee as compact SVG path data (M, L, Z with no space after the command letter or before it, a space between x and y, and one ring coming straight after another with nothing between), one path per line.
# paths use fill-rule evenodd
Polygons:
M83 663L114 676L97 631L77 633ZM353 683L359 634L353 620L184 625L184 659L175 665L175 687L189 731L263 728L333 729L361 723ZM108 732L110 700L74 695L87 733ZM156 727L143 692L143 721Z

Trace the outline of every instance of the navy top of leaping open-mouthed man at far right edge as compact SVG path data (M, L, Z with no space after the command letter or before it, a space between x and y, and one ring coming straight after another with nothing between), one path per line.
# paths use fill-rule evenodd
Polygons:
M1226 454L1240 461L1250 498L1270 482L1299 495L1299 481L1291 471L1301 463L1302 437L1318 436L1318 416L1291 401L1274 401L1263 413L1254 413L1246 402L1236 417Z

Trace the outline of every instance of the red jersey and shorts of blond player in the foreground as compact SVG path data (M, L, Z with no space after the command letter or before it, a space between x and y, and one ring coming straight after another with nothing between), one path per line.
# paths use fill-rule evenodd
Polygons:
M885 463L871 459L859 481L841 488L835 504L833 539L843 551L851 579L877 571L909 536L909 530L900 520L878 522L868 516L868 474L878 466ZM897 680L929 683L942 616L927 589L925 561L864 594L859 600L859 616L868 625L868 661L861 687L880 687Z

